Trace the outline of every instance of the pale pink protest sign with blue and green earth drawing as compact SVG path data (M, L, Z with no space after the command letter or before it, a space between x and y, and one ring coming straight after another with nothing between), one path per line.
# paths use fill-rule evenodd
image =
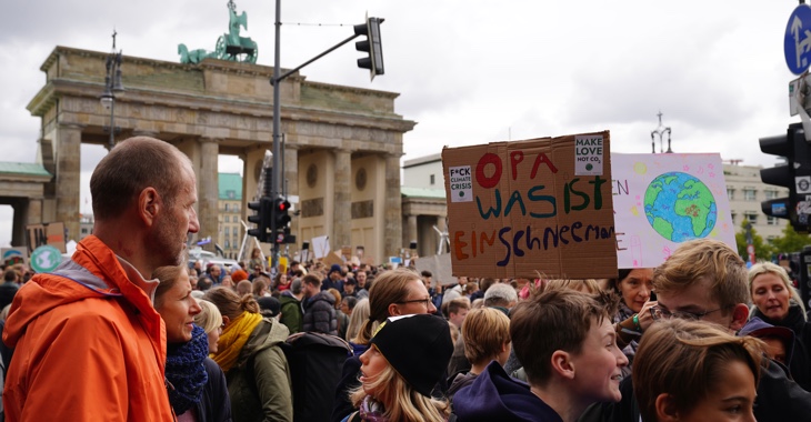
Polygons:
M611 154L619 268L657 267L679 244L735 247L721 155Z

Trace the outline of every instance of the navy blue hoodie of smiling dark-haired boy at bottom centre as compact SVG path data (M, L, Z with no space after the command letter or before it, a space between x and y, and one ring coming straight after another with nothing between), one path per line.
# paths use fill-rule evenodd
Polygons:
M497 361L490 362L472 384L457 392L453 413L459 422L563 422L552 408L532 394L527 383L508 376Z

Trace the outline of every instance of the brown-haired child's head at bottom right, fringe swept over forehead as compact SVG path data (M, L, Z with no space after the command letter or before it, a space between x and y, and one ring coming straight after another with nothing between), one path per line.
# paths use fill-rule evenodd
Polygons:
M760 340L707 322L653 323L632 373L642 421L753 422L763 351Z

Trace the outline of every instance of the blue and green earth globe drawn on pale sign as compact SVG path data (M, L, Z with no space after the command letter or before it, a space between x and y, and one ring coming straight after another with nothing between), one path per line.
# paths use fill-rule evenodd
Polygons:
M701 180L673 171L660 174L648 185L644 214L662 238L685 242L710 234L718 221L718 207Z

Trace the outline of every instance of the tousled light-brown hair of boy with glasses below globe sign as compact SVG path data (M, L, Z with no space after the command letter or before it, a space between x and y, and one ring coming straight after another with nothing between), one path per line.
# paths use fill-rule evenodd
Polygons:
M710 299L727 315L739 303L750 304L747 264L738 251L713 239L684 242L653 270L653 290L658 294L680 293L707 280Z

